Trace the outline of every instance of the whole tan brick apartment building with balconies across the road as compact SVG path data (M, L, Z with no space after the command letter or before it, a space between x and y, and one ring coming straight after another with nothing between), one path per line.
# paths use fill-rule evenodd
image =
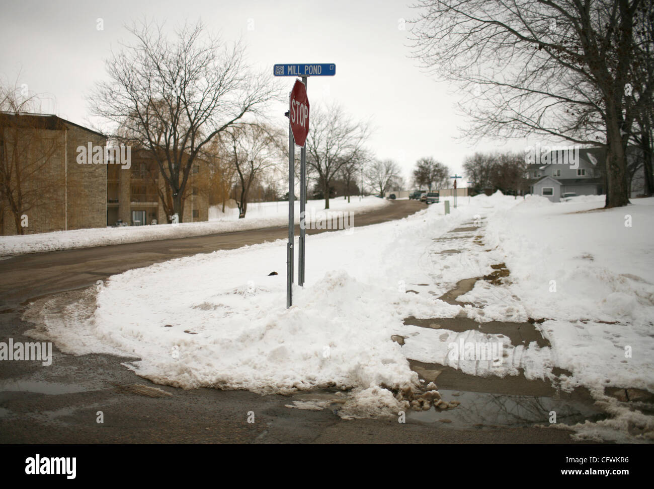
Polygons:
M107 136L56 115L0 113L0 234L20 234L11 201L21 198L24 234L167 223L152 154L130 151L122 165L105 147ZM209 220L208 181L198 158L186 184L184 223Z

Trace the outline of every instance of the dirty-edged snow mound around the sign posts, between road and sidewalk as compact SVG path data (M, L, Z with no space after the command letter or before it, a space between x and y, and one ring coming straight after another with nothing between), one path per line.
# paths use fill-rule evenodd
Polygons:
M257 392L356 388L344 416L362 415L354 405L371 415L378 409L396 415L401 405L390 401L391 391L377 396L376 408L370 404L373 392L417 387L417 374L390 336L411 314L461 310L405 293L432 273L417 269L416 257L430 263L425 248L432 238L478 208L443 216L431 206L401 221L308 236L307 284L294 289L288 310L280 240L112 276L97 293L97 308L73 306L60 321L46 308L47 331L32 334L52 338L68 353L138 357L125 365L160 384ZM268 276L273 271L279 275ZM82 310L92 315L72 316Z

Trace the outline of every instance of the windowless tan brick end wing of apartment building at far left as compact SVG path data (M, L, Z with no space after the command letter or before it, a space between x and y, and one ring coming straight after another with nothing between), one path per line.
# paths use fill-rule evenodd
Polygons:
M107 136L56 115L0 113L0 234L20 234L12 208L24 234L105 226L107 168L77 163L89 143Z

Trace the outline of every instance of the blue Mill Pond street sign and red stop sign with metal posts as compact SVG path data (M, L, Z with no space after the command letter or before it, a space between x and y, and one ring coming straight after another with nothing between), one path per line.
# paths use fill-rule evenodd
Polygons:
M309 98L307 97L308 77L333 77L336 75L334 63L293 63L273 66L275 77L301 77L293 86L289 96L288 113L288 247L286 250L286 308L293 304L293 242L294 242L294 187L295 187L295 144L300 146L300 240L298 242L298 283L304 285L305 253L305 215L307 200L307 169L305 141L309 132ZM302 86L303 85L303 86Z

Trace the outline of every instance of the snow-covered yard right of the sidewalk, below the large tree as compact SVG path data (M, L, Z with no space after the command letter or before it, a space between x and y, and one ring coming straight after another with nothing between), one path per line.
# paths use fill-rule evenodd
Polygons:
M564 387L654 391L654 199L606 210L534 202L492 216L486 239L511 271L509 293L547 319L557 366L573 372Z

